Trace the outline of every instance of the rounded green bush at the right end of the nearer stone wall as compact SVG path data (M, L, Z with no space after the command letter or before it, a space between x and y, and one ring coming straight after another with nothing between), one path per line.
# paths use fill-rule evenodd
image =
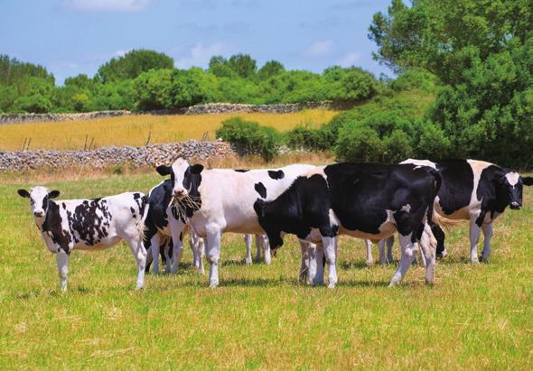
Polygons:
M281 142L281 135L275 128L261 126L238 116L224 120L216 134L224 141L236 145L239 151L258 154L266 162L274 158Z

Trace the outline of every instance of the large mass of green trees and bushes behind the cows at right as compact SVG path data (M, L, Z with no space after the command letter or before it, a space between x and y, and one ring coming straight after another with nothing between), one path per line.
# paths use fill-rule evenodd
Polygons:
M463 157L531 170L530 0L393 0L387 14L374 15L369 37L379 47L374 57L397 71L396 80L320 128L261 130L268 140L255 141L271 147L251 141L250 149L266 159L288 145L355 162ZM226 123L219 134L248 145L237 126Z

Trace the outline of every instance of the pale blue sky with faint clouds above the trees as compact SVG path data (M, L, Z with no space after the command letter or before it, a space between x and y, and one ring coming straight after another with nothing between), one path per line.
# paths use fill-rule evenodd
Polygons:
M39 63L58 83L94 75L132 49L163 51L175 66L250 54L290 70L332 65L392 72L372 60L372 14L390 0L0 0L0 53Z

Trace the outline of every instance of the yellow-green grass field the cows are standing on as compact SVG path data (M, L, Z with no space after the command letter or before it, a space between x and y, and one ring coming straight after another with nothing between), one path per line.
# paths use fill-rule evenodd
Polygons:
M80 198L158 181L141 174L48 186ZM187 247L177 275L148 275L136 292L136 265L120 245L75 251L61 294L55 256L15 194L34 183L10 183L0 185L1 369L533 368L531 190L524 209L496 222L490 263L467 262L465 227L449 233L433 287L413 267L388 288L395 266L365 266L362 241L346 238L338 287L306 287L296 280L294 238L271 266L247 266L242 237L228 235L217 290L194 274Z

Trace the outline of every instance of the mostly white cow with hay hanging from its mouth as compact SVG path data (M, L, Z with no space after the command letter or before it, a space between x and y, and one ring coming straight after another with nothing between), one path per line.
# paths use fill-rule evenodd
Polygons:
M171 227L177 231L173 235L181 233L185 225L190 225L206 239L210 287L219 285L221 234L263 234L254 210L257 197L276 199L299 174L312 168L311 165L295 164L273 170L203 171L201 164L190 165L184 159L176 160L172 166L156 168L163 176L171 175L173 204L178 209L177 223ZM174 255L179 256L180 249L181 246L176 248L174 245ZM174 259L174 262L177 261Z

